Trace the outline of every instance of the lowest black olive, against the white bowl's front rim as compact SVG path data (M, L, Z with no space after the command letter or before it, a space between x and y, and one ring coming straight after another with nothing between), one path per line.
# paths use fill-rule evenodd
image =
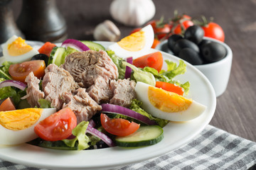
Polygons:
M181 59L185 60L186 62L189 62L190 64L193 65L200 65L203 64L203 60L201 59L200 55L198 52L191 48L183 48L179 53L178 57Z

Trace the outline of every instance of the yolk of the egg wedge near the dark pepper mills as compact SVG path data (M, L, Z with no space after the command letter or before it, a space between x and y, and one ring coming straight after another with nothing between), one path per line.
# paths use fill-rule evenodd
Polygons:
M27 45L25 40L23 40L20 37L16 38L16 40L14 40L13 42L11 42L11 44L8 45L8 52L9 55L11 56L23 55L32 49L33 47Z

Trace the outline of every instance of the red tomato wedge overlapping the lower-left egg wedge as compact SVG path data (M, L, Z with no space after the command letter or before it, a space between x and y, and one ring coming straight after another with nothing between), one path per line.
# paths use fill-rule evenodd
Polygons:
M63 108L38 123L34 131L43 140L65 140L72 134L72 130L76 125L77 118L75 113L70 108Z

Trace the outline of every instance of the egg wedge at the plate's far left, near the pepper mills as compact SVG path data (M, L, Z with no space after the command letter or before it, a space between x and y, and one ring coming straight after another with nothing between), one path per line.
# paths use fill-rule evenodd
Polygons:
M25 40L16 35L9 38L1 47L5 60L9 62L24 62L39 54L37 50L26 44Z

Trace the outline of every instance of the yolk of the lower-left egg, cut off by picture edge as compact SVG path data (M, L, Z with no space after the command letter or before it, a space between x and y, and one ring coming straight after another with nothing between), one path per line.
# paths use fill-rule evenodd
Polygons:
M43 108L25 108L16 111L1 111L0 124L9 130L23 130L31 127L41 117Z

